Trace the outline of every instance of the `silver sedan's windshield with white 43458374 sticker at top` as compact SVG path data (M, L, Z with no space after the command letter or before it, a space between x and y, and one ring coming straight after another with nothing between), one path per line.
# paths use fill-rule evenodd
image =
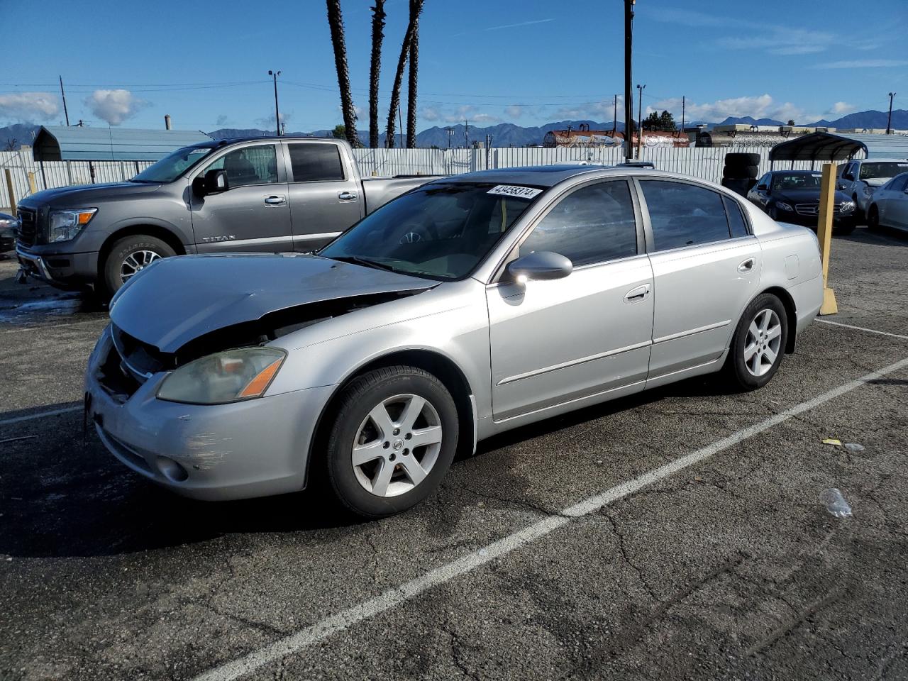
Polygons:
M462 279L541 192L489 183L429 184L371 213L319 255L430 279Z

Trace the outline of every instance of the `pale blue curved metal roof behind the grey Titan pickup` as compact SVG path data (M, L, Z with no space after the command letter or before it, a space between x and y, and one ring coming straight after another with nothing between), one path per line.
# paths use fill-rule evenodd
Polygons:
M180 147L211 142L195 130L134 130L42 126L35 135L35 161L158 161Z

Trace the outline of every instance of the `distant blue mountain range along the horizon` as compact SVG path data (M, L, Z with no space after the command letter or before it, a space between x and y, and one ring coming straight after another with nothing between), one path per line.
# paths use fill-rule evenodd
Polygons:
M856 114L848 114L842 118L837 118L834 121L820 120L815 121L814 123L799 123L806 124L808 126L827 126L833 128L885 128L886 127L886 117L887 114L884 111L864 111ZM365 123L365 122L363 122ZM704 124L707 128L713 128L716 125L731 125L731 124L745 124L745 125L783 125L783 121L775 121L772 118L752 118L751 116L741 116L741 117L728 117L720 123L707 123L702 121L690 121L685 122L686 126L694 126L698 124ZM479 127L475 125L469 126L469 143L478 141L484 143L487 135L491 135L492 146L496 147L507 147L507 146L529 146L531 144L541 144L542 138L550 130L565 130L568 125L572 126L575 130L579 129L582 124L589 125L590 130L611 130L612 123L609 122L597 122L597 121L556 121L552 123L546 123L539 126L529 126L524 127L516 123L498 123L496 125L489 125L487 127ZM893 128L897 130L908 129L908 110L898 109L893 111ZM466 136L467 130L463 123L458 123L457 125L451 125L450 129L453 131L450 136L450 145L454 147L464 146L468 138ZM28 123L15 123L13 125L8 125L6 127L0 127L0 149L6 149L11 147L12 149L18 149L21 144L30 144L33 139L33 134L37 133L38 126L31 125ZM617 123L617 130L619 132L624 131L624 123ZM363 145L368 145L369 143L369 133L367 130L358 131L360 134L360 141ZM231 137L262 137L267 135L274 134L274 131L260 130L259 128L220 128L214 130L210 133L214 139L229 139ZM330 137L331 130L315 130L311 132L294 132L287 133L289 135L305 135L311 137ZM380 138L380 145L384 146L385 135L382 134ZM400 135L395 135L395 144L397 146L402 146ZM441 127L439 125L427 128L426 130L417 133L416 135L416 144L419 147L439 147L440 149L445 149L449 145L449 133L447 127Z

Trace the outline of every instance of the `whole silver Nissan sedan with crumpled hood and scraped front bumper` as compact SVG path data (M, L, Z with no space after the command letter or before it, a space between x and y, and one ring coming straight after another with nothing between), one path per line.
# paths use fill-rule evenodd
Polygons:
M814 234L645 169L469 173L317 255L183 256L111 303L86 411L183 495L327 487L378 518L504 430L723 371L764 386L823 298Z

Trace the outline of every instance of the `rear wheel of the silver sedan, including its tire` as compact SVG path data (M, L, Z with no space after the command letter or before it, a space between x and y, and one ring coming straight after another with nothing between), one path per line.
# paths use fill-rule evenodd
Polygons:
M757 390L772 380L788 341L785 306L772 293L761 293L747 306L735 328L725 376L737 390Z

